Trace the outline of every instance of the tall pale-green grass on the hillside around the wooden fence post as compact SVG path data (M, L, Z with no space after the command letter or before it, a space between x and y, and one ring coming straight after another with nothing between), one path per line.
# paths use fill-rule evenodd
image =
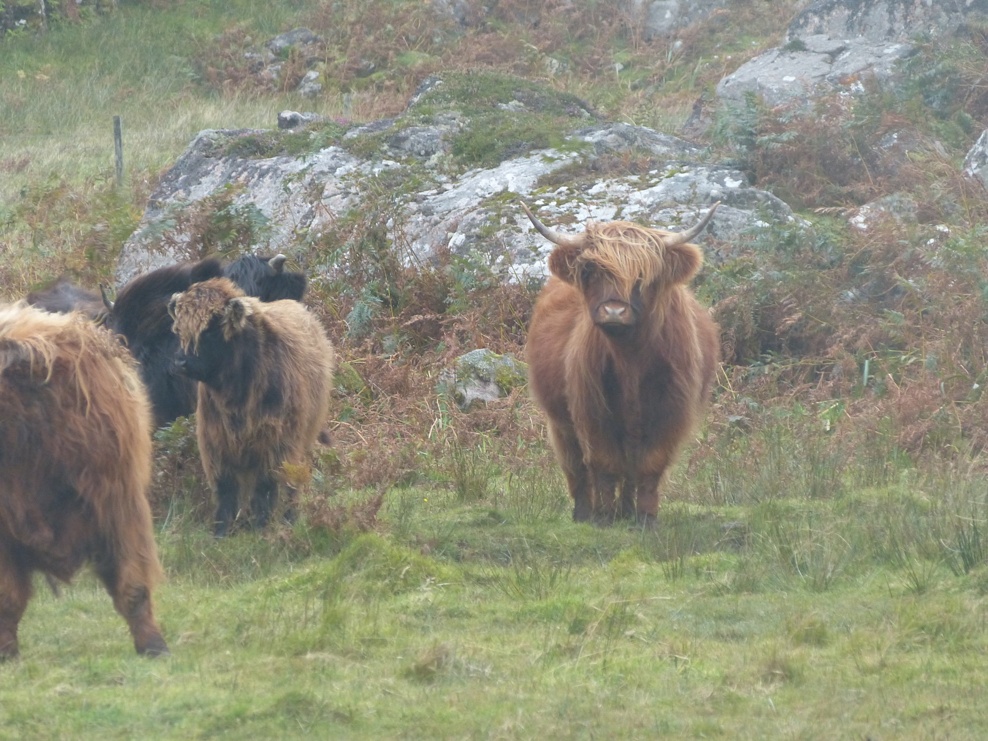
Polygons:
M12 174L0 183L0 201L51 173L73 183L110 179L114 115L124 122L126 173L140 186L203 128L271 128L279 111L300 106L338 112L338 96L210 93L198 77L194 58L224 28L247 23L263 41L290 28L300 10L257 0L122 5L82 26L4 40L0 163Z

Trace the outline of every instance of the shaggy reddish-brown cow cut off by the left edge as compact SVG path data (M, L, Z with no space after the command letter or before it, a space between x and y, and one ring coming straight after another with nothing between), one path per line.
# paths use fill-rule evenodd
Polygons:
M36 570L68 581L89 561L138 653L166 654L151 590L151 413L126 349L82 314L0 308L0 658Z

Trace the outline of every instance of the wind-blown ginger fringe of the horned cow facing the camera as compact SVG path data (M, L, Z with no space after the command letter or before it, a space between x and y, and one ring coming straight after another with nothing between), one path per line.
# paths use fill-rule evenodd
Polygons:
M649 286L662 278L666 254L662 237L670 232L630 221L591 221L584 233L587 247L573 266L577 280L583 267L593 263L614 276L621 292L627 296L636 282Z

